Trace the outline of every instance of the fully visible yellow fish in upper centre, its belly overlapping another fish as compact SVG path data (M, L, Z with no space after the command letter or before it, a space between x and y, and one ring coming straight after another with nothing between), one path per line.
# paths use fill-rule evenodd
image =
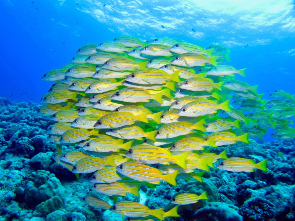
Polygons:
M168 75L166 72L158 69L140 69L136 70L126 76L125 80L136 84L163 84L171 80L180 83L181 80L178 77L179 71Z

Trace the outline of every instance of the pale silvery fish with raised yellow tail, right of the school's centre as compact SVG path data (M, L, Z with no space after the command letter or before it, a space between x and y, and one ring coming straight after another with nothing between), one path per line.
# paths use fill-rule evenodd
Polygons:
M184 105L179 111L179 116L197 117L204 116L206 114L216 113L217 110L230 111L230 100L224 101L221 104L216 104L212 101L191 101Z

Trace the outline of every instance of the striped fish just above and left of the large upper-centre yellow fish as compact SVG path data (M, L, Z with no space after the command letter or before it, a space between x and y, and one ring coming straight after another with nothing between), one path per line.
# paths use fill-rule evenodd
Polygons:
M130 58L123 58L123 57L114 57L106 62L101 66L104 69L109 69L113 71L131 71L136 69L145 68L146 62L135 62Z

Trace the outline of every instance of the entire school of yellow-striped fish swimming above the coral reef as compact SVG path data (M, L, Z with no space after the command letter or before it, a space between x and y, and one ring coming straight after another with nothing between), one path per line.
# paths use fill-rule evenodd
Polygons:
M219 169L267 171L267 159L209 152L237 141L248 144L267 128L273 137L294 138L294 96L275 90L272 100L263 100L257 86L235 80L246 68L223 64L230 61L229 52L216 44L204 49L169 38L141 42L122 36L86 44L70 64L43 75L42 80L55 81L39 110L55 122L47 131L57 146L53 159L75 174L91 173L89 187L115 201L89 195L83 198L89 206L123 220L164 220L179 216L181 205L208 199L206 192L171 196L177 206L167 212L116 202L117 196L140 196L140 185L154 188L161 181L202 182L204 171L220 159ZM85 151L62 153L62 145Z

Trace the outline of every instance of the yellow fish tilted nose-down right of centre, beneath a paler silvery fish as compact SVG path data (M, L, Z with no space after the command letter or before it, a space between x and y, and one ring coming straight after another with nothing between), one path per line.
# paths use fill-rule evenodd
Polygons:
M159 128L156 133L156 139L167 139L191 133L192 130L204 131L205 119L197 123L174 122L167 123Z

